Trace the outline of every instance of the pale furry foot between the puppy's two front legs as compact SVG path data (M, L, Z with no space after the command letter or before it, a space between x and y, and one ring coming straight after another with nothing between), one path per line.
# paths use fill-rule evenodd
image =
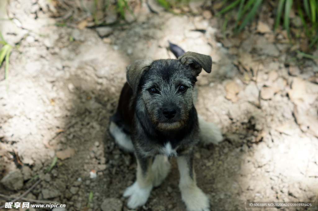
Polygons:
M158 187L162 181L168 176L170 171L170 163L165 155L157 155L152 164L152 172L154 174L153 186Z

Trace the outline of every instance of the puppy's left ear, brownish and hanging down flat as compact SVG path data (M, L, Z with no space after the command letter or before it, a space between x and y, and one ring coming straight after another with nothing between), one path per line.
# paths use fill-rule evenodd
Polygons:
M126 68L126 78L130 87L133 89L134 95L138 91L138 85L143 71L152 64L152 59L140 59Z

